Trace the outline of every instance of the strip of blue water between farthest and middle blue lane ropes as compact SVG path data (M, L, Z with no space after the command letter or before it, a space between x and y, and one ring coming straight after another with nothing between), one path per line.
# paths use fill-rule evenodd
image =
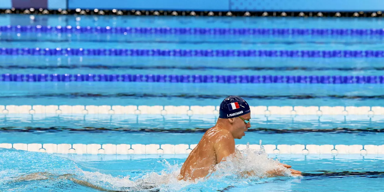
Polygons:
M332 44L332 50L344 50L346 49L346 45L348 43L329 43L329 42L250 42L250 43L242 43L242 42L116 42L116 41L104 41L104 42L93 42L88 41L86 43L81 41L70 41L64 40L60 42L58 46L55 41L45 41L45 42L36 42L36 41L10 41L10 42L2 42L3 47L8 48L116 48L116 49L225 49L225 50L252 50L252 49L260 49L263 50L329 50L329 44ZM375 42L375 43L361 43L354 42L349 43L348 50L382 50L383 43Z

